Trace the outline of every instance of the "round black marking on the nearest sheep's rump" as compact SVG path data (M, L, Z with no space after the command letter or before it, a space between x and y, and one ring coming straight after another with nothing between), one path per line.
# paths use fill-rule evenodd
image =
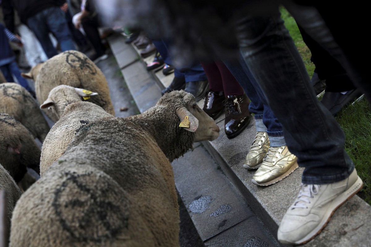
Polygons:
M108 183L96 178L94 183L98 184L97 190L86 183L94 179L93 172L77 174L67 171L63 175L65 180L54 191L52 206L63 230L72 238L84 242L103 242L128 228L127 205L115 205L112 201L104 200L109 196L117 197ZM77 193L79 197L71 198L70 193Z

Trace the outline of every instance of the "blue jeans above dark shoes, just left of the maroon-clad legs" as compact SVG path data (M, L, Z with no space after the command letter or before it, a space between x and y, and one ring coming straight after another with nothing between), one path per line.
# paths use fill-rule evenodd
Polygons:
M172 65L173 61L171 58L171 54L169 51L169 47L171 46L170 41L165 40L152 40L152 43L157 48L157 51L161 54L162 59L168 65ZM207 80L207 76L205 71L200 63L192 63L189 66L179 67L176 66L174 69L174 77L177 78L184 78L185 83L190 81L204 81Z

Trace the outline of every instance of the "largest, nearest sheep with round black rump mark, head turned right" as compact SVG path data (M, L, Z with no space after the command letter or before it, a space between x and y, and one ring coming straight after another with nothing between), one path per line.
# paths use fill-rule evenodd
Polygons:
M19 199L10 247L179 246L170 162L218 136L184 91L142 114L92 121Z

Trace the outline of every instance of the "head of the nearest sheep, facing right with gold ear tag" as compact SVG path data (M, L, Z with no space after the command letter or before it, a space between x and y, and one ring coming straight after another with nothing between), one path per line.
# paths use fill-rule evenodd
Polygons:
M169 100L175 106L175 112L179 117L179 127L194 132L194 142L212 141L219 137L219 126L197 105L196 98L183 90L165 94L159 103ZM173 102L172 102L173 101Z

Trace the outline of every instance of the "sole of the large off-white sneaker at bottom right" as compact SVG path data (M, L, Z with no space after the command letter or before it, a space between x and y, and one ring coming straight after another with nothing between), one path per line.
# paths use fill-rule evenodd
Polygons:
M352 198L355 194L357 194L363 187L362 179L358 176L355 183L346 191L339 194L338 197L331 203L330 209L324 216L324 219L321 223L316 227L313 231L311 231L307 236L303 237L301 240L296 241L295 243L287 242L285 240L278 239L283 244L305 244L315 238L321 231L327 226L327 223L330 221L331 216L335 213L336 209L338 209L342 204ZM331 209L333 208L333 209Z

